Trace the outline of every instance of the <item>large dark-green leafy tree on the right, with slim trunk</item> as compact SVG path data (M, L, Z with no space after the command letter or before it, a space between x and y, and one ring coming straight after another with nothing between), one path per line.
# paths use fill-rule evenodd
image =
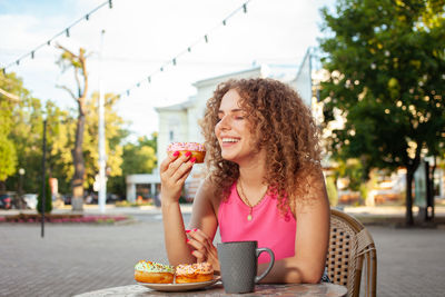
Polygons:
M322 10L329 72L322 83L325 122L346 119L329 139L335 156L406 175L406 224L413 225L413 176L445 140L443 0L339 0Z

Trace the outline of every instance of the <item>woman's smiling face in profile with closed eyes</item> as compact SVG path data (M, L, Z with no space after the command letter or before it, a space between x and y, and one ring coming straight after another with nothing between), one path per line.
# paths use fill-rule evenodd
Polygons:
M240 101L238 91L235 89L227 91L219 106L219 121L215 126L215 135L218 138L222 158L238 165L257 157L254 154L255 138L250 132L250 123Z

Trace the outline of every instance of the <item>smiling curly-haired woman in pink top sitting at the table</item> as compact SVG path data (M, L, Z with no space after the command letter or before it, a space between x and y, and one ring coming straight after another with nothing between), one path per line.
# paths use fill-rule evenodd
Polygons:
M165 238L171 265L209 261L212 240L258 240L276 261L264 283L318 283L329 237L329 204L319 165L318 132L309 109L273 79L229 80L207 102L202 132L208 177L185 230L179 196L195 159L167 157L160 166ZM175 156L176 155L176 156ZM261 254L258 270L267 267Z

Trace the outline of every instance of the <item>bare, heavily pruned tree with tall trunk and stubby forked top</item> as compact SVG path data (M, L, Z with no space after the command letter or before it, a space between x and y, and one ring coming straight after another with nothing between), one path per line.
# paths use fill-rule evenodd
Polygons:
M71 150L72 162L75 167L75 174L72 176L72 210L83 209L83 181L85 181L85 159L83 159L83 135L85 135L85 121L87 116L87 93L88 93L88 72L87 72L87 57L85 49L79 49L79 55L75 55L65 47L58 44L62 55L58 60L62 71L72 68L75 71L75 79L77 83L77 92L73 92L67 86L60 86L69 92L75 99L78 107L78 118L76 123L76 140L75 147ZM80 72L80 73L79 73ZM82 77L80 81L79 76Z

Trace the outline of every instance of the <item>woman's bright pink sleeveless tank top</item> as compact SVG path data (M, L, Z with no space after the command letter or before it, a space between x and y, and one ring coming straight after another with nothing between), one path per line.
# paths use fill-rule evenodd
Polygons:
M275 196L266 197L253 209L253 219L247 220L250 208L243 202L236 190L222 200L218 209L219 234L221 241L257 240L258 247L268 247L274 251L275 260L295 255L296 220L290 212L280 215ZM268 263L269 255L261 253L258 263Z

